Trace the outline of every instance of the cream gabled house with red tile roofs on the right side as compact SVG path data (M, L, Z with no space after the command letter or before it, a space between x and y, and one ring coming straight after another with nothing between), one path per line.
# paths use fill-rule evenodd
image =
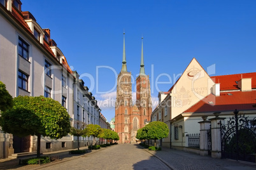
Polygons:
M152 112L152 121L165 122L169 135L157 143L164 147L192 150L188 136L197 134L199 139L199 122L203 121L202 117L208 120L215 118L215 112L220 112L220 116L228 120L238 109L253 119L256 116L253 107L255 88L255 73L210 77L193 58L169 91L159 92L159 105ZM199 153L199 148L196 152Z

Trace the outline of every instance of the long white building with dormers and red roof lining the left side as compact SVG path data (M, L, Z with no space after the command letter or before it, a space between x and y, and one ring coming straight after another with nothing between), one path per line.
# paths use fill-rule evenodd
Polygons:
M20 0L0 1L0 81L10 95L45 96L67 109L71 126L99 124L97 100L73 72L66 57ZM41 152L76 148L76 137L41 138ZM20 152L36 152L36 136L18 138L0 131L0 158ZM81 139L83 145L92 141ZM82 145L80 145L82 146Z

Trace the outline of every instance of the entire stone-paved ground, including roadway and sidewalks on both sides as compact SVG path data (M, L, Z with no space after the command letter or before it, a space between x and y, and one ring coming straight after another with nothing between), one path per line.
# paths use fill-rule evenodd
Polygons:
M83 149L83 148L81 148ZM52 152L47 155L59 156L45 165L19 166L18 159L0 159L0 169L234 169L256 170L255 163L231 159L213 159L201 155L162 148L150 151L136 144L118 144L91 150L84 155L69 155L68 152Z

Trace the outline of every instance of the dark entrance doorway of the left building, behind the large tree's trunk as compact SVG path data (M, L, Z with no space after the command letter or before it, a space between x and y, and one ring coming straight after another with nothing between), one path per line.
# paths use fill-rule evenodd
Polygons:
M30 148L30 135L25 137L13 136L14 153L29 152Z

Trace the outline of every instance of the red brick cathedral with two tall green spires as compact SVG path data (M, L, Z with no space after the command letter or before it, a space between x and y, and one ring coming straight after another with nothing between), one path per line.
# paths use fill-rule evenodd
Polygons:
M136 77L136 101L132 102L131 72L127 72L125 56L125 34L122 69L117 77L117 100L115 103L115 131L119 143L136 143L138 129L150 121L152 101L149 75L145 74L143 57L143 38L141 42L141 65Z

